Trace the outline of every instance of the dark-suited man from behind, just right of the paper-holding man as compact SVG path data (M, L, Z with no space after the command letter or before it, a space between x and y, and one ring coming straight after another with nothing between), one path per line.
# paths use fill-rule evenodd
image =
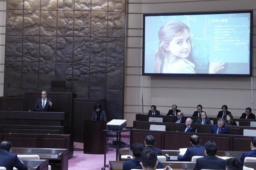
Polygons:
M217 144L213 141L208 141L205 144L205 156L198 158L194 170L211 169L211 170L225 170L226 160L218 158Z

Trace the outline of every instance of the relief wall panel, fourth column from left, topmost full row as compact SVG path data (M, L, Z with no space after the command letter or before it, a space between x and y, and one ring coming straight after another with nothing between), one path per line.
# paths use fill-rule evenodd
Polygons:
M74 12L58 11L57 36L73 36Z

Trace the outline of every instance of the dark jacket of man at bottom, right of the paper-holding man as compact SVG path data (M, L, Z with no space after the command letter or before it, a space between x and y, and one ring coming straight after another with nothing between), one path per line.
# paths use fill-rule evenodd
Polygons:
M194 170L211 169L211 170L225 170L226 160L218 158L217 156L204 156L198 158Z

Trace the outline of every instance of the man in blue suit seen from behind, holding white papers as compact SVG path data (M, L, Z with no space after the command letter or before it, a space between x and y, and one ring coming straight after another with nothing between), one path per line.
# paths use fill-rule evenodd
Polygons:
M197 135L190 136L190 144L192 147L188 147L186 153L182 156L178 156L179 161L191 161L193 156L204 156L204 146L200 145L200 139Z

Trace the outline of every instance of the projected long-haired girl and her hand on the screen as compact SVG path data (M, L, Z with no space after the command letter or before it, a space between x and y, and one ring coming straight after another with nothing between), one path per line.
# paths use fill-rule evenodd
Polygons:
M188 26L178 20L165 23L158 32L159 45L155 57L155 73L195 74L191 60L192 48ZM224 63L210 63L209 73L215 74Z

